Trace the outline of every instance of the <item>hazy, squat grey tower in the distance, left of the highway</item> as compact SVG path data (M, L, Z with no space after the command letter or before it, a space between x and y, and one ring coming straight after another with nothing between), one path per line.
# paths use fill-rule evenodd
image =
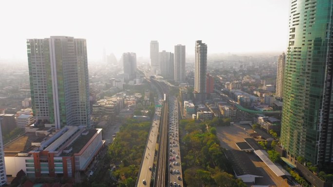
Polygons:
M125 80L136 78L136 54L134 52L125 52L121 57L124 66Z

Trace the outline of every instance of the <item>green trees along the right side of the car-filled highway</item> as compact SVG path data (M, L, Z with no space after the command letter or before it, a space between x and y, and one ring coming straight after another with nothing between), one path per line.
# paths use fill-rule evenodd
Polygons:
M231 166L220 146L216 129L211 128L208 132L206 127L194 120L180 121L181 133L187 132L181 147L185 155L182 157L184 183L188 187L246 187L240 179L228 173L232 171Z

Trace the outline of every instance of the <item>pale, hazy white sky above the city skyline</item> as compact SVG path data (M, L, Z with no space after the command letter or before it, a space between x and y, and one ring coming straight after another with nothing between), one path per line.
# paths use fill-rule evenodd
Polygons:
M285 51L289 0L1 0L0 58L26 59L26 39L86 38L88 59L103 48L149 56L203 40L208 53Z

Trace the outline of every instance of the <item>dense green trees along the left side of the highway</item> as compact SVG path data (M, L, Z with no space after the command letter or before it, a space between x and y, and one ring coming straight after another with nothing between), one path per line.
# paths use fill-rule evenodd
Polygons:
M145 150L150 122L127 119L108 150L111 163L119 165L112 175L118 187L134 187Z

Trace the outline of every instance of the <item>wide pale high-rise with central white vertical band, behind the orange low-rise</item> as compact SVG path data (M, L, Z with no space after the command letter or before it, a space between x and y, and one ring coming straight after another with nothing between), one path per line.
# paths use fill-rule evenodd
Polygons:
M37 120L90 128L85 39L51 36L28 39L31 100Z

